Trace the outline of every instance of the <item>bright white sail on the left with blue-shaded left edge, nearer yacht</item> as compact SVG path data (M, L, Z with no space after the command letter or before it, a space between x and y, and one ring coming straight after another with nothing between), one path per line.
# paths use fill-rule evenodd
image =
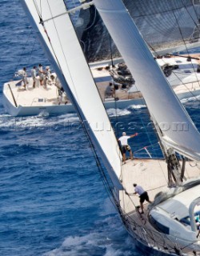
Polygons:
M122 189L119 181L122 156L118 142L110 127L109 118L69 14L66 13L65 3L62 0L21 0L21 2L62 86L77 108L79 116L86 121L90 139L98 149L114 186Z

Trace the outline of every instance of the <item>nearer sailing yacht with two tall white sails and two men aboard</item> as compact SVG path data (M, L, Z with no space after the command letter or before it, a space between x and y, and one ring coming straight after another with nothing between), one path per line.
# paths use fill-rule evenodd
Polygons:
M62 0L21 0L30 24L82 120L104 182L134 243L154 255L200 255L200 134L121 0L94 4L146 101L163 158L122 162L122 153ZM183 1L182 4L185 4ZM145 75L144 75L145 74ZM85 90L87 88L87 91ZM93 97L90 97L92 95ZM90 129L89 129L90 128ZM101 161L99 160L101 158ZM103 169L102 169L103 171ZM145 188L144 214L133 184Z

